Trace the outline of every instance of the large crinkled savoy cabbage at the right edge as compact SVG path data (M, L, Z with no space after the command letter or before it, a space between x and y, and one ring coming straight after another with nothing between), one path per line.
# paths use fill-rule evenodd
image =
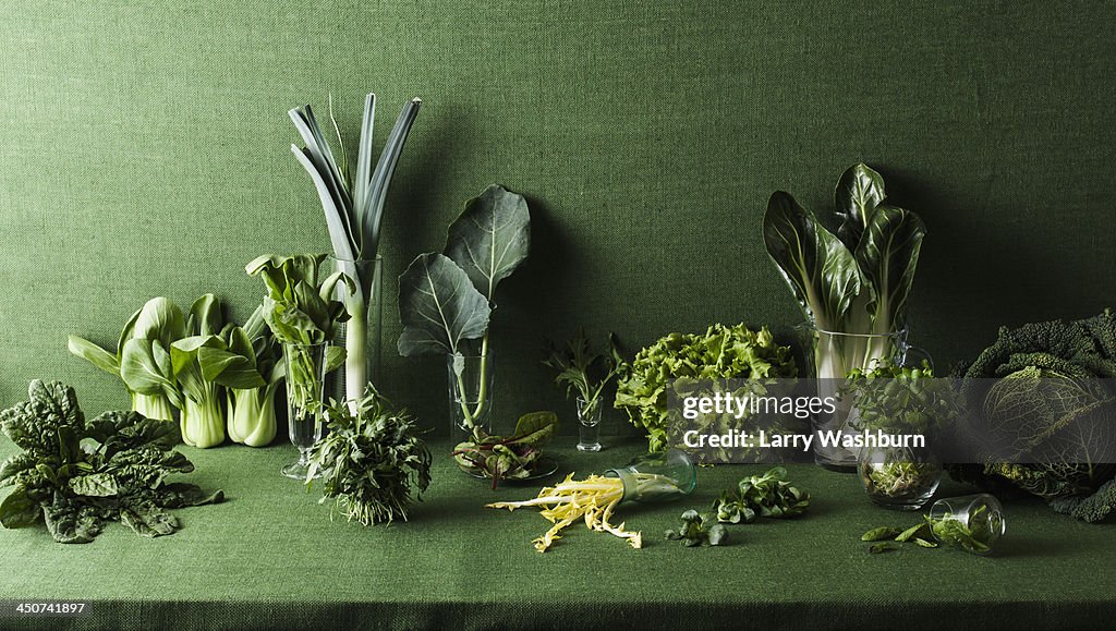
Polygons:
M1116 444L1116 314L1003 327L955 376L964 379L969 409L981 412L971 422L1001 452L1016 451L953 466L955 478L1022 489L1085 522L1116 508L1116 467L1100 463Z

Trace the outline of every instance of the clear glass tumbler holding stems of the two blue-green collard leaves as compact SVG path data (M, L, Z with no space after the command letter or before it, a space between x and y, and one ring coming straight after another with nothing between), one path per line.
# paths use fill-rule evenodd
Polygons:
M492 350L483 354L446 355L450 393L450 436L469 440L477 430L492 432L496 365Z

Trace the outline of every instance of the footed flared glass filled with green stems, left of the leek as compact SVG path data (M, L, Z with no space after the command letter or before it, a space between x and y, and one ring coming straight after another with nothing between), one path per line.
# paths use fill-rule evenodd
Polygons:
M321 438L321 402L326 379L327 344L285 344L287 366L287 424L290 442L298 448L298 461L282 468L282 475L306 480L307 451Z

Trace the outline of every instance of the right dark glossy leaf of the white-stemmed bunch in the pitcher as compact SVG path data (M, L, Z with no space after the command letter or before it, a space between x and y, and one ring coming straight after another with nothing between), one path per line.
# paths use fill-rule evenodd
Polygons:
M856 249L856 260L870 291L869 309L879 333L902 326L903 308L914 284L922 239L926 235L918 216L894 207L879 207L868 221Z

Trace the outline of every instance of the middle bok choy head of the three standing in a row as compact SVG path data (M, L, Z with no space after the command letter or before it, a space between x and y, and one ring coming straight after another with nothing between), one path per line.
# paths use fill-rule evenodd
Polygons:
M227 389L229 438L266 447L276 438L276 394L286 366L282 348L263 322L263 307L257 307L243 327L227 324L221 340L228 350L199 350L202 376Z

